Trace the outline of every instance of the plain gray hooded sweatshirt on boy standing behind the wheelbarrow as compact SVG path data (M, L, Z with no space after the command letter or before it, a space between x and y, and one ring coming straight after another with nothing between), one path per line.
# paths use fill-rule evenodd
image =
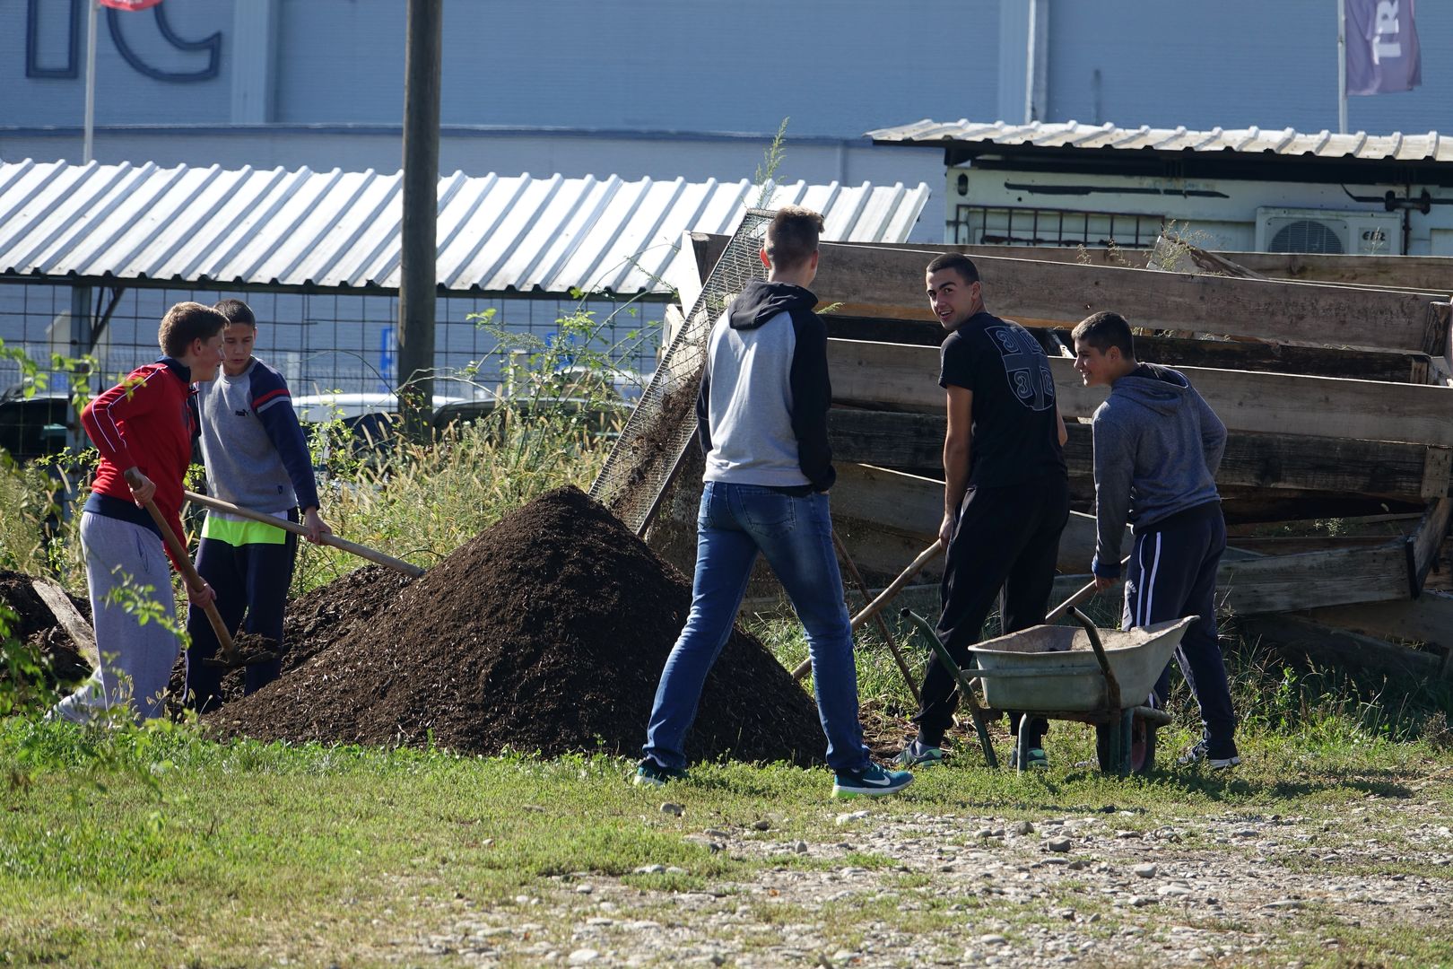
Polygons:
M1094 413L1096 540L1091 569L1120 574L1120 536L1219 500L1226 426L1186 375L1142 363Z

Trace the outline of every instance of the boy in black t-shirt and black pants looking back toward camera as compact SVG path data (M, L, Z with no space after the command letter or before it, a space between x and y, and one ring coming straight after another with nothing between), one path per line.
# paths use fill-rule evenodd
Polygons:
M946 253L927 270L928 304L949 331L939 384L947 391L943 442L943 616L939 638L962 665L1004 590L1004 632L1045 620L1055 581L1059 533L1069 520L1065 424L1055 405L1049 357L1024 327L984 309L974 263ZM958 693L949 673L930 662L918 737L898 755L904 766L943 758ZM1026 767L1045 767L1043 718L1010 715L1030 731Z

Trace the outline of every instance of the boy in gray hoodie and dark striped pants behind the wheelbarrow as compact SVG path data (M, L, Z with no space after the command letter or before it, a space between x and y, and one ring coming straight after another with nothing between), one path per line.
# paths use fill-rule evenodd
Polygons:
M1075 370L1085 386L1109 386L1096 408L1094 492L1098 536L1090 565L1097 588L1120 578L1120 535L1135 535L1125 580L1125 629L1197 616L1175 651L1200 705L1203 735L1183 758L1212 767L1241 763L1237 718L1216 638L1216 568L1226 522L1216 469L1226 427L1184 373L1135 359L1125 317L1097 312L1074 330ZM1165 702L1170 668L1155 686Z

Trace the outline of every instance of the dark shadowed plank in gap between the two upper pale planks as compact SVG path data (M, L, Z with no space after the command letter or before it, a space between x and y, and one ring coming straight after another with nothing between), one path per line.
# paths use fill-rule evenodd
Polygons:
M911 343L936 347L944 331L936 320L876 320L822 314L827 334L838 340L870 340L875 343ZM1049 356L1061 356L1058 347L1074 346L1067 328L1030 330ZM1306 376L1337 376L1354 381L1388 381L1392 384L1430 384L1428 354L1405 350L1343 350L1308 347L1289 343L1247 343L1241 340L1186 340L1180 337L1136 337L1136 354L1151 363L1167 366L1200 366L1219 370L1255 370L1258 373L1300 373Z

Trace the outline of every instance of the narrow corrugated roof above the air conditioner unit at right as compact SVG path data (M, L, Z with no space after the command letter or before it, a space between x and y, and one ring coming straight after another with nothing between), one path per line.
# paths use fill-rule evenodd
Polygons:
M1036 148L1114 148L1152 151L1234 151L1241 154L1314 155L1319 158L1359 158L1364 161L1453 161L1453 138L1436 131L1404 135L1369 135L1364 131L1334 135L1328 131L1300 132L1290 128L1116 128L1114 125L1062 123L1010 125L1003 121L968 119L879 128L867 132L876 144L995 144L1033 145Z

